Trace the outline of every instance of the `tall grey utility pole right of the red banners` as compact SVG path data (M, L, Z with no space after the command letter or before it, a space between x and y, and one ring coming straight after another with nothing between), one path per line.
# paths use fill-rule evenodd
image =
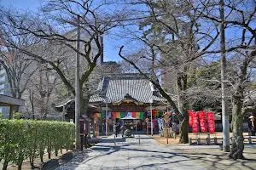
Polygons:
M220 50L221 50L221 95L222 95L222 127L223 127L223 150L230 152L230 121L229 105L227 101L226 68L227 61L225 56L225 28L224 28L224 0L220 0Z

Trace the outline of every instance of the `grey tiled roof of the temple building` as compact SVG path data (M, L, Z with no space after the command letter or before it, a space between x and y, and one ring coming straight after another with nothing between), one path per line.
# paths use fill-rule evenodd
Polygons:
M99 84L98 90L99 94L93 95L90 98L90 102L104 101L106 96L108 103L118 102L124 99L126 94L143 103L149 103L149 99L165 101L154 89L152 83L138 74L120 74L104 77ZM100 94L102 94L102 97L100 97Z

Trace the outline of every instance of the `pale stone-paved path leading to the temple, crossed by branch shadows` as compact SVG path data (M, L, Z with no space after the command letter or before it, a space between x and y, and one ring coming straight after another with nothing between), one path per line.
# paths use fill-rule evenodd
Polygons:
M138 144L137 138L137 135L135 139L118 137L116 145L113 144L113 136L102 139L102 142L93 146L91 150L83 151L73 160L58 167L57 170L204 169L146 135L141 135L141 144Z

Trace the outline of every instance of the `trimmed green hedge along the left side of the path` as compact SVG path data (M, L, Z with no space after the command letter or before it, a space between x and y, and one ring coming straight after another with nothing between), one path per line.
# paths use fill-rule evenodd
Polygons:
M73 149L75 126L70 122L31 120L0 120L0 161L3 169L14 162L21 169L29 158L31 166L35 158L43 162L45 150L50 154L58 150Z

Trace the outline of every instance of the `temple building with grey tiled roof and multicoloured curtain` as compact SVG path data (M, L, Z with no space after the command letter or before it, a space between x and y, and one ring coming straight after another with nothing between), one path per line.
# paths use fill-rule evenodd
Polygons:
M151 109L154 128L156 128L157 117L166 111L165 99L148 79L137 73L112 74L103 77L97 93L90 97L90 105L102 109L102 112L96 115L101 117L102 128L106 122L107 111L109 124L123 124L124 121L121 118L129 115L136 118L138 130L145 129L144 120L147 117L150 119Z

